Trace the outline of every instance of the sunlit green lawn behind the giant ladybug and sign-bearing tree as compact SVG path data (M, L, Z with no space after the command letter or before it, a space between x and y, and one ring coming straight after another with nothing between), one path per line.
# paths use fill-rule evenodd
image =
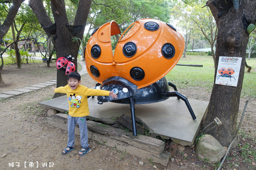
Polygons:
M189 67L176 65L167 75L166 79L174 83L177 88L201 87L206 91L212 91L214 80L214 63L212 56L187 56L181 57L178 64L199 64L203 67ZM247 64L252 67L250 73L244 70L243 87L241 97L256 96L256 58L247 59Z

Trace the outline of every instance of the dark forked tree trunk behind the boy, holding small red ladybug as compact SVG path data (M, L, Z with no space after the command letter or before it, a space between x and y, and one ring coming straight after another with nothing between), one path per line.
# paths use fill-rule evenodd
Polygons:
M91 0L72 1L76 4L76 17L73 20L73 26L82 26L80 32L72 35L66 25L70 25L67 17L66 5L64 0L50 0L50 6L56 29L53 32L47 31L45 27L53 25L50 16L47 14L46 8L42 0L30 0L29 6L34 11L38 21L43 26L48 37L53 36L53 45L57 59L71 55L75 57L75 65L77 71L77 56L80 46L80 41L83 39L84 28L90 10ZM67 85L67 75L64 71L57 70L57 87ZM55 94L54 97L61 96Z

